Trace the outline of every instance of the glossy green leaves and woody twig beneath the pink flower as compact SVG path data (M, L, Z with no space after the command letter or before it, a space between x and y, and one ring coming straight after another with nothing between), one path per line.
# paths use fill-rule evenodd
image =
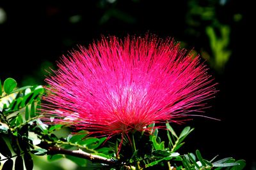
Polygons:
M95 138L88 136L87 131L76 134L65 131L63 135L62 131L69 127L45 124L40 115L44 87L17 88L12 78L4 80L3 85L0 81L0 85L0 167L3 170L33 169L31 155L47 155L49 161L67 158L78 166L93 164L98 169L239 170L245 167L244 160L232 157L207 160L199 150L179 153L184 139L194 129L185 127L177 134L168 122L168 141L161 140L154 124L150 125L149 135L133 132L115 139ZM118 147L120 143L121 148Z

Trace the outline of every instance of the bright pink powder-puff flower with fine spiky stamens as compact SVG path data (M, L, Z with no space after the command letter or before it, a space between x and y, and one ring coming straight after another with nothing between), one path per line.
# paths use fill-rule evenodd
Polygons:
M102 38L58 62L46 117L93 133L127 134L202 111L216 90L199 57L156 36ZM179 118L179 119L178 119Z

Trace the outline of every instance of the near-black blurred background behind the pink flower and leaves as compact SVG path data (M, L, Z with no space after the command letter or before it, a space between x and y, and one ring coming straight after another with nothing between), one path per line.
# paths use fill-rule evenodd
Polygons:
M195 117L195 127L184 152L199 149L206 159L215 155L245 159L256 169L255 157L255 52L251 43L253 6L247 1L0 1L0 78L13 77L19 85L44 84L45 69L55 67L61 55L77 45L88 45L101 35L167 36L201 53L218 84L218 94L205 114L221 121ZM215 38L227 40L217 55L207 27ZM221 36L221 29L228 34ZM220 43L219 43L220 44ZM185 125L182 125L184 127ZM179 127L177 127L179 128Z

